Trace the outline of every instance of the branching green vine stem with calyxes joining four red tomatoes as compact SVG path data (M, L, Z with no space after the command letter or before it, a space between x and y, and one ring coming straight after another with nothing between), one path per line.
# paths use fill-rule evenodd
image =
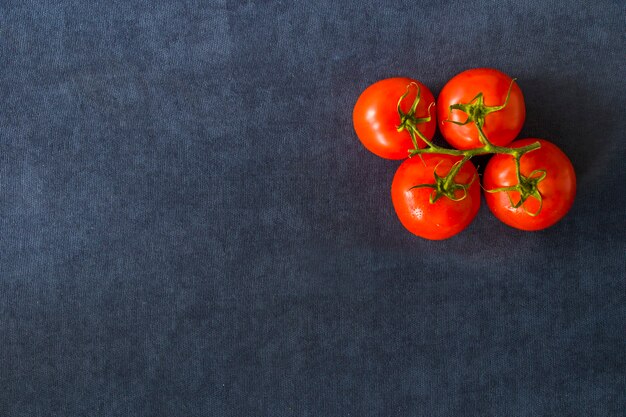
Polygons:
M475 178L473 178L472 181L470 181L468 184L456 183L454 181L454 177L459 172L461 167L467 161L469 161L472 157L476 155L506 154L506 155L511 155L514 158L516 176L517 176L517 184L511 187L502 187L502 188L496 188L493 190L485 190L485 191L489 193L506 192L507 196L509 197L511 206L513 208L523 207L524 211L526 211L526 213L530 216L537 216L539 214L543 206L543 196L541 195L541 192L539 191L538 185L541 181L543 181L546 178L546 176L548 175L548 172L544 169L537 169L531 172L530 175L524 176L520 172L520 159L526 153L531 152L535 149L539 149L541 147L541 144L539 142L535 142L535 143L531 143L530 145L526 145L521 148L507 148L503 146L496 146L489 141L489 139L487 138L483 130L483 127L485 125L485 118L487 117L487 115L489 115L490 113L500 111L507 106L514 82L515 82L515 79L511 80L511 84L509 85L509 89L506 94L506 99L504 100L504 103L502 103L499 106L486 106L482 92L478 93L476 97L474 97L469 103L457 103L457 104L453 104L450 106L450 111L460 110L464 112L465 114L467 114L467 119L464 122L457 122L457 121L452 121L452 120L445 120L444 122L454 123L456 125L461 125L461 126L466 125L468 123L474 123L474 125L476 126L476 129L478 130L478 136L483 146L480 148L468 149L468 150L448 149L448 148L439 147L435 145L434 143L432 143L430 140L428 140L417 129L416 125L418 123L428 122L431 120L430 107L428 108L428 117L426 118L415 117L415 109L417 108L417 104L419 103L419 100L420 100L420 89L419 89L419 86L417 86L417 89L418 89L417 97L415 98L415 101L413 102L413 105L411 106L411 110L408 113L402 112L402 110L400 109L400 103L402 102L404 98L406 98L406 96L409 93L409 88L411 87L411 85L414 85L414 83L409 84L407 86L406 93L404 93L404 95L402 95L402 97L400 97L400 100L398 101L398 114L400 115L400 120L401 120L400 126L398 126L398 132L401 132L406 129L411 135L414 148L409 149L409 158L415 155L421 157L422 154L426 154L426 153L445 154L445 155L453 155L453 156L462 157L461 160L459 160L452 166L452 169L450 169L450 172L448 172L448 174L446 174L444 177L441 177L437 174L436 172L437 168L435 167L435 169L433 170L433 176L435 179L434 184L418 184L418 185L414 185L410 189L432 188L433 192L431 193L430 198L429 198L429 201L431 203L435 203L438 199L442 197L449 198L452 201L463 200L464 198L467 198L468 189L474 182ZM424 141L424 143L426 143L427 145L426 148L420 149L417 146L417 137L419 137L421 140ZM457 196L459 191L461 191L461 195ZM513 201L513 198L511 197L511 194L510 194L511 192L519 193L520 195L519 201L517 202ZM526 207L524 206L524 203L530 197L533 197L539 201L539 209L535 212L528 211Z

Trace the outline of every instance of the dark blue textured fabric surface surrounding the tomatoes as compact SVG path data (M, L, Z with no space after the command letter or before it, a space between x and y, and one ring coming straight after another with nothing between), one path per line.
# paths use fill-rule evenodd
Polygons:
M0 415L620 415L625 18L3 1ZM481 66L518 78L522 136L570 156L577 200L542 232L483 206L419 239L352 106Z

